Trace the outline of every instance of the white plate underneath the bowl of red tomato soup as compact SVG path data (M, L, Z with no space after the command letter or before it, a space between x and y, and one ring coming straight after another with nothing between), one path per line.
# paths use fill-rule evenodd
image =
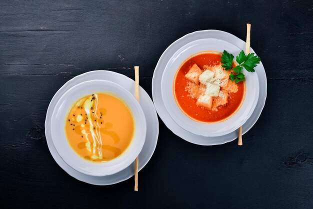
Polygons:
M163 104L162 95L161 95L161 77L163 74L163 71L165 69L165 66L169 60L169 58L183 45L194 41L198 39L203 38L216 38L225 40L229 43L232 43L239 47L240 49L245 48L245 42L238 37L224 31L220 30L201 30L201 31L195 31L189 34L186 34L185 36L179 38L175 42L173 42L170 46L166 48L166 50L163 52L161 57L159 58L156 67L154 69L153 78L152 78L152 97L154 101L155 109L159 115L159 117L163 120L164 124L177 136L181 137L182 139L189 141L191 143L199 144L199 145L216 145L216 144L222 144L229 141L234 140L238 136L238 131L234 130L231 133L228 133L223 136L215 136L215 137L205 137L201 135L196 135L193 133L190 133L189 131L183 129L177 123L174 122L174 120L170 117L168 112L165 109L165 106ZM250 48L251 52L254 52L252 48ZM266 99L266 88L267 88L267 82L266 82L266 74L264 67L262 63L258 64L258 69L256 70L257 76L258 76L258 82L259 82L259 96L258 101L256 104L256 107L251 114L251 116L248 118L248 120L242 125L242 133L246 133L256 122L258 119Z

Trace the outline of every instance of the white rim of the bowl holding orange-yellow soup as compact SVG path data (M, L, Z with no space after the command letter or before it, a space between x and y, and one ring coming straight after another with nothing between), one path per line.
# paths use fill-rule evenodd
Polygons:
M120 97L129 106L135 121L135 131L124 153L110 161L93 163L78 156L70 147L65 135L65 119L69 108L79 98L105 91ZM138 101L125 88L107 80L85 81L69 88L56 103L51 117L51 137L56 151L69 166L87 175L104 176L123 170L135 160L145 140L146 121Z

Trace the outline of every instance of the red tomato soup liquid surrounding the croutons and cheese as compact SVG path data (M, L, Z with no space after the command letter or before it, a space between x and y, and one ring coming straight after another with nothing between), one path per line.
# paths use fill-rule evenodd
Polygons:
M236 92L227 93L227 102L214 110L197 105L197 99L190 96L190 92L186 89L186 86L189 85L189 81L186 79L185 75L194 64L200 68L200 72L205 71L205 68L219 65L220 57L221 53L212 51L195 54L186 59L176 72L173 83L173 93L176 103L179 108L193 120L205 123L221 122L231 117L240 108L244 100L245 81L234 83L234 81L230 79L227 80L228 82L232 82L232 85L236 85L237 90Z

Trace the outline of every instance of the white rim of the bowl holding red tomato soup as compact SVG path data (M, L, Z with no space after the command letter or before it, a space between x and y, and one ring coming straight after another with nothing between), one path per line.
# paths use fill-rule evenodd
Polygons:
M228 51L236 56L241 49L220 39L205 38L187 43L179 48L168 60L161 80L162 100L171 118L183 129L202 136L221 136L240 127L252 114L258 99L259 84L256 72L243 69L246 79L246 92L244 101L237 112L227 120L218 123L204 123L191 119L180 110L173 94L175 73L186 58L201 51Z

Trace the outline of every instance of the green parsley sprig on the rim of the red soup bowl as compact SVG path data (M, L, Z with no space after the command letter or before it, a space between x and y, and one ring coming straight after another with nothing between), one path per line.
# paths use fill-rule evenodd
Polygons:
M257 55L254 55L254 53L248 53L245 54L244 51L240 51L240 53L236 56L236 61L238 62L238 65L235 67L232 67L232 60L233 55L231 53L228 53L226 50L223 51L220 62L222 63L222 67L224 67L225 70L232 69L235 73L231 72L229 75L229 78L235 83L238 83L240 81L243 81L244 74L242 73L242 68L245 68L248 72L254 72L254 67L260 62L261 58Z

